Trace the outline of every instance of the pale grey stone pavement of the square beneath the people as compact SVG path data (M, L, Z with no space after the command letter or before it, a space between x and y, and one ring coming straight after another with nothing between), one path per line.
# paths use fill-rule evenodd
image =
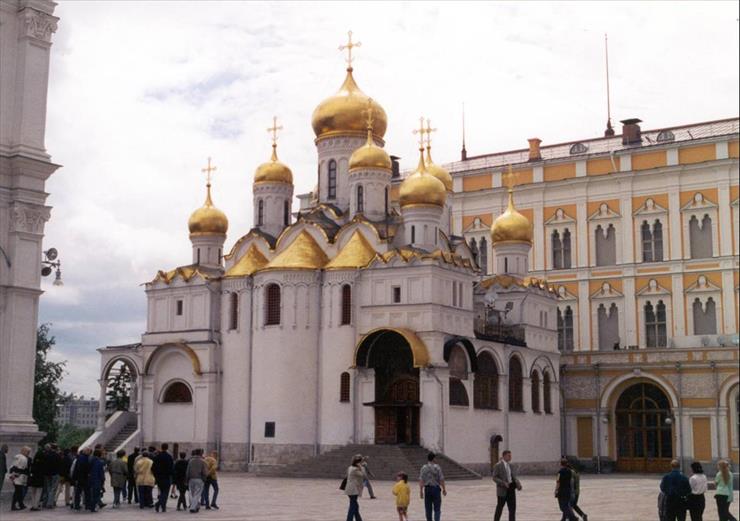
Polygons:
M658 519L656 500L659 476L590 476L581 479L579 505L589 521L654 521ZM318 479L257 478L248 474L222 473L219 476L221 493L218 511L204 511L197 515L175 511L175 501L169 500L166 514L143 512L126 504L118 510L110 506L99 514L75 513L67 508L41 512L9 512L4 501L0 519L46 521L55 519L134 520L148 519L208 519L244 521L343 521L347 498L338 490L335 481ZM364 521L395 521L390 482L376 482L378 499L360 500ZM411 521L424 519L424 506L418 495L418 485L412 483ZM517 495L519 521L558 521L560 512L553 497L554 477L523 476L524 490ZM3 494L5 496L5 494ZM490 480L451 482L448 495L442 503L443 521L490 521L493 519L495 491ZM111 502L111 494L106 501ZM155 493L156 496L156 493ZM717 507L712 492L707 493L706 521L717 520ZM738 515L738 493L732 503ZM507 515L504 513L503 519Z

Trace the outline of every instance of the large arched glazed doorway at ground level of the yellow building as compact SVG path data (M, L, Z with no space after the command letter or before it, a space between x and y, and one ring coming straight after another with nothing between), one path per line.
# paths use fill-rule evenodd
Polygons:
M617 470L669 470L673 458L673 422L665 393L651 383L633 384L619 396L614 413Z

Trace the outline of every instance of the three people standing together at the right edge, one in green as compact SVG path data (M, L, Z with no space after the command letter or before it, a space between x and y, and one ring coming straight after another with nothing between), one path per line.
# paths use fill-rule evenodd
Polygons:
M691 464L691 477L681 472L678 460L671 461L671 471L660 481L660 495L658 496L658 513L660 521L685 521L686 512L691 521L702 521L707 491L707 477L701 463ZM730 512L732 503L732 472L730 465L724 460L717 462L717 475L714 477L716 489L714 500L717 503L719 521L737 521Z

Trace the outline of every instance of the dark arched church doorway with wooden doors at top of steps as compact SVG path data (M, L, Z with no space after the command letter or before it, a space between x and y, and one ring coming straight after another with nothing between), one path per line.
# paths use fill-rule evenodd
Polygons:
M357 349L357 366L375 373L375 400L364 405L375 410L377 444L419 444L420 353L408 337L408 333L382 329L367 335Z

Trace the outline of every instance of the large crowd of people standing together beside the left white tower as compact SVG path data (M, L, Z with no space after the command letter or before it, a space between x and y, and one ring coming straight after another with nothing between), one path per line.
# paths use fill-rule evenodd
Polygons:
M7 446L0 448L0 462L6 461L7 451ZM177 510L195 513L201 506L218 509L218 454L214 451L204 457L202 449L194 449L190 458L185 452L177 456L175 460L169 453L167 443L159 449L137 447L130 455L119 450L111 458L100 445L93 449L61 450L55 444L47 444L39 447L33 457L31 448L23 447L9 469L7 464L2 465L0 481L4 481L7 472L14 487L11 510L56 508L64 491L65 506L96 512L106 506L102 500L106 473L113 489L112 508L120 508L127 501L142 509L166 512L167 500L172 498L177 499Z

